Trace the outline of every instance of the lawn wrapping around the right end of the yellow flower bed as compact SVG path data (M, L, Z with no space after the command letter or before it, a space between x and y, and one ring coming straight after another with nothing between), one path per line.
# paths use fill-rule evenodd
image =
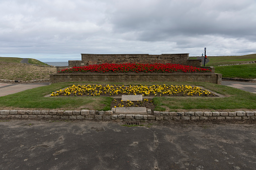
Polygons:
M165 106L170 110L236 110L236 109L255 109L256 94L235 89L228 86L211 83L193 83L203 86L209 90L222 94L226 97L156 97L154 98L158 108ZM164 110L164 109L163 109Z

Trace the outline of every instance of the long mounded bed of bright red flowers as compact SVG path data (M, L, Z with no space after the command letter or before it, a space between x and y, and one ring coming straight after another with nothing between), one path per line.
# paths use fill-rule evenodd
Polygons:
M114 72L114 73L127 73L127 72L145 72L145 73L173 73L173 72L211 72L211 70L197 68L193 66L185 66L181 64L140 64L140 63L124 63L124 64L99 64L81 67L73 67L59 71L59 73L72 73L72 72Z

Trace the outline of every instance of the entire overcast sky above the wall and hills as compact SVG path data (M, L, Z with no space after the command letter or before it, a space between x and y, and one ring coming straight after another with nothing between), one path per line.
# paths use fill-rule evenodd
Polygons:
M256 53L255 0L1 0L0 56Z

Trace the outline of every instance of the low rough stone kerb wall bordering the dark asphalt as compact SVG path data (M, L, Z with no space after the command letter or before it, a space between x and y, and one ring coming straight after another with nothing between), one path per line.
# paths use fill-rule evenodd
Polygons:
M162 112L147 109L147 114L116 114L113 110L0 110L0 119L90 119L90 120L256 120L252 111Z

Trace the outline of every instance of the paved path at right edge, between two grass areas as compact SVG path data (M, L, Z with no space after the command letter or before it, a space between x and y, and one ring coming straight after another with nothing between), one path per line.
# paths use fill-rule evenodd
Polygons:
M234 87L244 91L256 94L256 82L241 82L241 81L221 81L221 85Z

